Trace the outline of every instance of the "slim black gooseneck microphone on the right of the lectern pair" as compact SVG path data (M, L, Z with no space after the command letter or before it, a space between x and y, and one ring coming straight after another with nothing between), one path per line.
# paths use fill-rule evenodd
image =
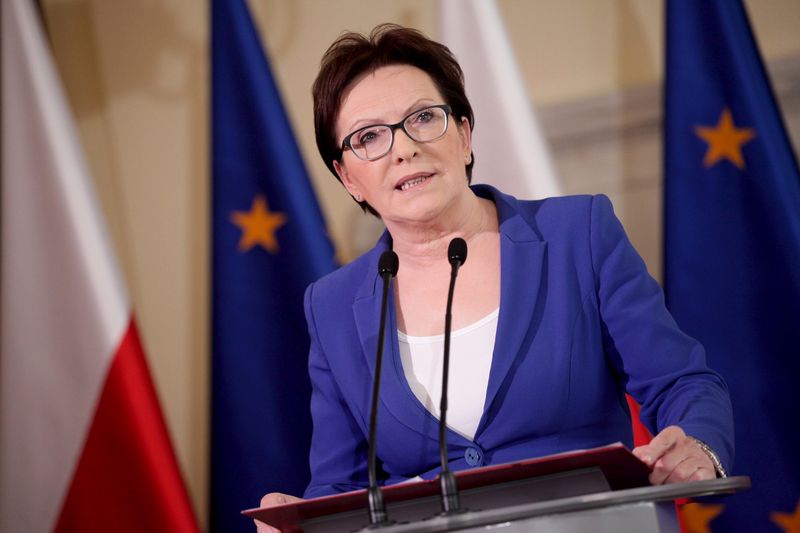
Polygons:
M450 288L447 291L447 310L444 315L444 363L442 368L442 398L439 404L439 456L442 472L439 474L442 496L442 514L462 512L458 498L456 478L450 471L447 460L447 380L450 373L450 329L452 326L453 292L456 286L458 269L467 260L467 243L461 237L450 241L447 247L447 260L450 262Z

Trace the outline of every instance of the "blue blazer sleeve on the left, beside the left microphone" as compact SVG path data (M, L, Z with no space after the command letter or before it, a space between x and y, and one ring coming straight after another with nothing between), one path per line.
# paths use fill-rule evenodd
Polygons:
M315 498L364 488L369 483L368 444L341 394L328 358L320 345L314 319L312 283L305 293L305 312L311 336L311 482L304 497Z

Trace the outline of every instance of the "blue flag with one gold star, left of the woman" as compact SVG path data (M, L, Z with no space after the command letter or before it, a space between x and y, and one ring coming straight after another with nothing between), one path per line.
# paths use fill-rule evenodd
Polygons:
M212 1L211 531L302 494L311 438L306 286L334 250L244 0Z

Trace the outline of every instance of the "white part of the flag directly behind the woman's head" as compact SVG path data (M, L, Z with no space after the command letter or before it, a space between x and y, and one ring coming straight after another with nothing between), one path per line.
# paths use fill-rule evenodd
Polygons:
M523 200L561 184L494 0L439 0L439 37L464 70L475 113L474 183Z

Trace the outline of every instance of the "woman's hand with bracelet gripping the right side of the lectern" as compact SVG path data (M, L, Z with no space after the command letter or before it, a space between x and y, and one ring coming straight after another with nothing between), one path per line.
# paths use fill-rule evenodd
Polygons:
M635 448L633 455L652 469L650 483L653 485L717 477L708 455L678 426L664 428L650 444Z

